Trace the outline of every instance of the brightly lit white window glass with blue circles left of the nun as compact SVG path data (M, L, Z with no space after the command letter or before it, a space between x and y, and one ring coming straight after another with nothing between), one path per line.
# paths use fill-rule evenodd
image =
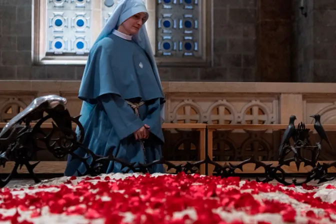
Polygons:
M94 32L95 0L48 0L46 5L46 55L83 55L89 52ZM100 0L101 28L113 0Z

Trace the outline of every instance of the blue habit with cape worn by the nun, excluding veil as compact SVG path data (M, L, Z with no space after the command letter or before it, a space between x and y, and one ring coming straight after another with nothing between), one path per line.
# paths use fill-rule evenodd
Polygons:
M149 163L160 159L164 143L160 109L164 103L159 80L145 51L133 40L123 39L113 33L92 46L89 65L85 67L79 98L83 101L79 121L84 127L83 144L97 155L113 156L126 162ZM138 103L139 116L127 104ZM135 140L133 132L144 124L150 126L148 139ZM85 156L82 149L75 151ZM91 159L88 159L90 162ZM86 168L78 159L68 156L64 175L77 175ZM103 165L105 173L121 172L121 164ZM164 172L162 164L148 168L150 173Z

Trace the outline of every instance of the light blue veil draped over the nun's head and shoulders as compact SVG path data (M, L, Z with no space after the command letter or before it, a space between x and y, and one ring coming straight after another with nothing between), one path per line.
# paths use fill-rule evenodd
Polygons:
M145 12L148 15L148 12L147 12L147 9L146 9L146 6L143 0L117 0L117 3L114 7L115 8L111 16L107 20L105 26L101 30L99 36L97 37L93 45L96 44L99 40L108 36L113 31L113 29L115 29L123 21L125 21L127 18L131 17L132 15L139 13L139 12ZM156 75L156 80L158 80L159 82L158 84L162 90L161 81L160 81L160 77L158 74L158 69L156 66L153 52L151 50L151 46L150 46L150 42L149 42L149 38L148 38L148 34L147 34L147 30L145 26L142 25L138 33L136 35L133 35L132 38L133 38L133 41L137 43L147 53L150 63L152 64L154 74ZM87 75L88 71L86 68L89 67L90 63L91 63L90 60L88 60L86 63L82 80L85 79L85 76L88 76ZM93 106L90 103L85 102L85 97L82 97L83 95L85 95L85 91L86 89L84 89L82 84L80 84L78 97L84 100L81 111L80 111L80 114L82 115L80 118L83 120L86 120L88 118L90 110L93 108ZM163 91L162 91L162 94L163 94ZM164 104L161 104L160 109L161 109L161 113L160 113L161 122L163 123L164 122Z

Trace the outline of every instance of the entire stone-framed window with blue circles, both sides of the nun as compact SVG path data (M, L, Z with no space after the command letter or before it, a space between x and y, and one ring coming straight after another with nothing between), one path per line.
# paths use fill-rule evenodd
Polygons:
M84 64L117 0L33 0L34 61ZM205 62L210 0L144 0L149 39L158 64ZM208 21L210 21L208 19Z

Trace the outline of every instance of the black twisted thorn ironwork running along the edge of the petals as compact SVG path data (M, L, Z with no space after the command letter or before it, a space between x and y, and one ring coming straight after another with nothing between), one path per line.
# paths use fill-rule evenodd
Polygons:
M38 111L38 113L36 113L36 111ZM46 112L47 115L43 116L43 112ZM38 162L30 164L29 161L36 151L45 149L50 151L56 158L63 158L70 154L72 159L78 159L82 162L86 170L83 173L80 173L77 170L78 175L98 175L102 172L101 167L104 163L114 161L121 164L121 169L126 168L125 172L132 171L143 173L146 173L148 170L147 168L155 164L165 164L167 170L175 170L173 173L195 173L199 171L201 164L205 164L205 166L211 164L214 166L214 169L213 173L210 174L228 177L239 176L239 173L236 173L235 171L237 169L243 171L243 165L251 163L255 165L254 170L259 167L264 169L264 173L262 173L263 178L256 177L257 181L269 182L271 180L276 180L286 185L300 185L311 180L318 180L318 182L330 180L333 177L329 176L327 170L330 167L336 167L336 161L323 164L317 162L319 151L321 150L321 142L316 142L315 145L311 145L309 140L309 129L306 129L302 122L298 124L296 129L289 123L284 135L288 134L287 130L290 128L293 131L289 131L290 136L283 136L283 139L285 139L285 137L287 137L286 139L292 138L294 143L291 144L289 143L289 140L287 141L286 139L281 143L279 148L280 156L277 164L266 164L257 160L255 156L252 156L235 165L231 163L220 165L206 156L205 159L200 161L185 162L184 164L176 165L165 160L163 157L147 164L141 164L135 162L128 163L114 157L112 154L107 156L94 154L89 148L82 144L84 128L79 122L79 116L71 117L65 106L62 105L50 108L49 104L42 103L37 108L33 108L32 110L29 110L28 113L21 114L20 116L20 119L17 119L16 123L12 123L10 128L8 128L8 131L0 136L0 165L5 166L6 161L9 160L15 162L10 174L5 179L0 179L0 187L5 186L10 179L17 174L17 169L21 168L23 165L26 166L34 181L39 182L40 180L33 172L33 169ZM41 125L48 119L52 119L54 122L52 122L51 131L45 133L41 128ZM31 127L30 123L34 120L37 120L37 122ZM21 125L22 122L24 122L24 125ZM78 127L76 132L72 130L72 122ZM57 133L58 136L53 138L55 133ZM318 134L321 136L320 132L318 132ZM323 137L321 137L321 139L322 138ZM44 143L44 147L39 146L41 142ZM78 148L84 150L85 156L82 157L74 153ZM304 150L311 151L309 159L302 156L302 151ZM293 152L294 155L285 158L290 152ZM303 163L304 166L312 166L312 169L306 173L303 181L297 182L296 179L292 179L291 181L286 180L288 173L284 171L282 166L289 165L292 161L295 162L297 170L301 163Z

